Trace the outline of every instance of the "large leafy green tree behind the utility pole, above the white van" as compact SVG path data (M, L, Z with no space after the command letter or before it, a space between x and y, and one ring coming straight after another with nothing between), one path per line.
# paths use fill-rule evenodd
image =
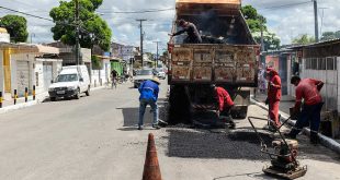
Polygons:
M98 14L95 10L102 4L103 0L79 0L80 20L80 46L92 48L99 45L103 50L110 49L111 28L107 23ZM52 27L53 38L61 40L67 45L76 44L76 22L75 22L75 0L69 2L60 1L59 7L53 8L49 16L56 23Z

